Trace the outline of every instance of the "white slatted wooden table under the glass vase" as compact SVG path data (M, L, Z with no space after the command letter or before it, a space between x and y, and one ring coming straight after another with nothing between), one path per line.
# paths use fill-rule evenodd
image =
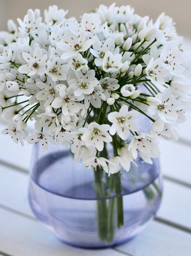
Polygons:
M0 130L3 127L0 126ZM126 244L78 249L59 241L28 204L31 145L0 134L0 256L191 256L191 118L178 142L161 142L163 200L157 216Z

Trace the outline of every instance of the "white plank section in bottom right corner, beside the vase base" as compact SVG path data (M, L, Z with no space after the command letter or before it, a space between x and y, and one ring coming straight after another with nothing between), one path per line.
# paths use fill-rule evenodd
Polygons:
M135 256L190 256L191 235L152 221L136 238L116 249Z

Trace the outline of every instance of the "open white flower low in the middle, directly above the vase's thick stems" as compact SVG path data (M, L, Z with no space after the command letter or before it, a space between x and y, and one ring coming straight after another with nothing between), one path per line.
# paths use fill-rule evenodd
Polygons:
M84 140L86 146L95 144L97 150L102 151L104 149L104 142L111 142L112 137L108 134L110 126L108 124L97 124L91 122L88 126L88 130L83 134L82 140Z

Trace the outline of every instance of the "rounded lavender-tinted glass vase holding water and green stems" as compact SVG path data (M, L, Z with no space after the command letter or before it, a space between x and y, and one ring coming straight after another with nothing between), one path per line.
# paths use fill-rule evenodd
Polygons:
M76 164L69 148L34 145L29 203L58 238L81 248L125 243L157 212L162 195L159 160L140 157L129 172L108 174Z

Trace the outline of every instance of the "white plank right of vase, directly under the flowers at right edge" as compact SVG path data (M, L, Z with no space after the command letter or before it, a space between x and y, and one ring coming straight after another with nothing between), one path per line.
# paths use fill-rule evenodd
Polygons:
M160 150L162 173L191 184L191 146L176 141L161 140Z

